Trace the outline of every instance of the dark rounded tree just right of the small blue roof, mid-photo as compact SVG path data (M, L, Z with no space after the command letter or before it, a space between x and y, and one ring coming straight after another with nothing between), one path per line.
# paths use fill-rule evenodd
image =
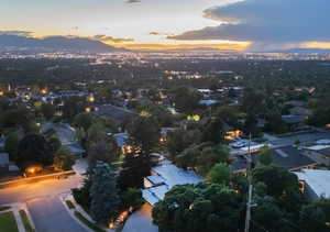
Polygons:
M154 118L141 117L131 122L129 134L134 144L148 154L160 142L161 128Z

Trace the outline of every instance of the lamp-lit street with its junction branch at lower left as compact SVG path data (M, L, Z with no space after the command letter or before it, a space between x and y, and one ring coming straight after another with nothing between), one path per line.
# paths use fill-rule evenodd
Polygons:
M67 179L50 179L12 188L0 189L0 206L14 202L26 203L38 232L81 232L79 223L67 212L59 195L70 192L81 184L84 161L74 168L78 173Z

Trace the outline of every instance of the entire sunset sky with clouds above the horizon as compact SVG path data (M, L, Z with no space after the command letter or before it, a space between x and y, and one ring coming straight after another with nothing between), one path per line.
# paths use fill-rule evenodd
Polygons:
M330 47L329 0L0 0L0 34L127 48Z

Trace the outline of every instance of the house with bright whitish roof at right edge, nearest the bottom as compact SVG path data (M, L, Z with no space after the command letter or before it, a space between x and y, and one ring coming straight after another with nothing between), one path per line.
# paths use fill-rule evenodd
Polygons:
M302 185L304 192L311 200L317 200L321 197L330 198L330 170L320 169L302 169L294 172Z

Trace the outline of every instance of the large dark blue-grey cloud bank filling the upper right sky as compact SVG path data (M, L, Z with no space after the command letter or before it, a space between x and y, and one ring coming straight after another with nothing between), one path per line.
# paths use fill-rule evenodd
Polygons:
M189 31L169 40L252 41L294 44L330 41L329 0L245 0L204 11L218 26Z

